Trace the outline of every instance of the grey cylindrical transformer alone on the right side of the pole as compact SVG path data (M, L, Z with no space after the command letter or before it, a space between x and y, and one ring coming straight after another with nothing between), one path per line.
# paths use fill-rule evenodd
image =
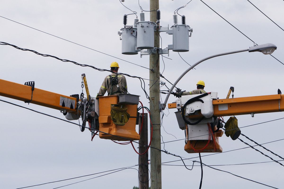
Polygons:
M175 25L173 29L173 51L187 52L189 51L189 30L188 25Z

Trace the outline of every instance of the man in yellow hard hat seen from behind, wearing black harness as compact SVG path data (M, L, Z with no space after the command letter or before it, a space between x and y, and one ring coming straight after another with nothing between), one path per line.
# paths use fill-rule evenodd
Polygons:
M118 68L119 65L117 62L112 62L110 64L110 70L114 73L105 77L97 97L105 95L106 91L108 92L108 95L127 93L126 78L124 75L116 74Z

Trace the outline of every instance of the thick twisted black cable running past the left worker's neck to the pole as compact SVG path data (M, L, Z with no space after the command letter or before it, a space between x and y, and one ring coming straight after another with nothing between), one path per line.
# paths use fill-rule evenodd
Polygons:
M19 49L19 50L30 51L30 52L33 52L33 53L35 53L35 54L37 54L37 55L44 56L44 57L52 57L52 58L55 58L55 59L60 60L60 61L62 61L62 62L71 62L71 63L73 63L73 64L75 64L75 65L79 65L79 66L82 66L82 67L91 67L91 68L93 68L93 69L95 69L95 70L98 70L98 71L108 71L108 72L114 73L114 72L111 71L111 70L100 69L100 68L94 67L94 66L92 66L92 65L87 65L87 64L80 64L80 63L77 63L77 62L75 62L75 61L66 60L66 59L61 59L61 58L58 58L58 57L56 57L56 56L49 55L49 54L41 54L41 53L39 53L39 52L37 52L37 51L35 51L35 50L30 50L30 49L26 49L26 48L20 48L20 47L18 47L18 46L16 46L16 45L9 44L9 43L6 43L6 42L0 42L0 45L9 45L9 46L12 46L12 47L14 47L14 48L16 48L16 49ZM146 98L149 99L149 95L147 94L147 92L146 92L146 90L145 90L145 81L143 80L143 78L138 77L138 76L131 76L131 75L126 74L126 73L116 73L116 74L117 74L117 75L126 75L126 76L128 76L128 77L133 77L133 78L138 78L138 79L140 80L140 83L141 83L141 88L142 88L143 92L144 92L145 95L146 95ZM143 84L142 84L142 81L143 81Z

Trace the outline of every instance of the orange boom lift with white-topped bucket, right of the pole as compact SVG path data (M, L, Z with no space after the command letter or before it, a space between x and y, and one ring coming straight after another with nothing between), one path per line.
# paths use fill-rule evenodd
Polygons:
M220 117L243 114L253 117L256 113L284 111L284 95L278 90L275 95L219 99L216 92L209 92L181 96L176 102L169 103L168 108L178 109L175 112L178 125L186 133L185 151L222 152L218 142L218 137L223 134ZM233 140L237 137L231 136Z

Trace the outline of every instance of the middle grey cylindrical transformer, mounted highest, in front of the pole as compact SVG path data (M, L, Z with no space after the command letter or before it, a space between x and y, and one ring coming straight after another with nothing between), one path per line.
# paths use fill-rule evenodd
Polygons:
M137 48L154 48L154 31L156 24L154 22L138 22L137 25Z

